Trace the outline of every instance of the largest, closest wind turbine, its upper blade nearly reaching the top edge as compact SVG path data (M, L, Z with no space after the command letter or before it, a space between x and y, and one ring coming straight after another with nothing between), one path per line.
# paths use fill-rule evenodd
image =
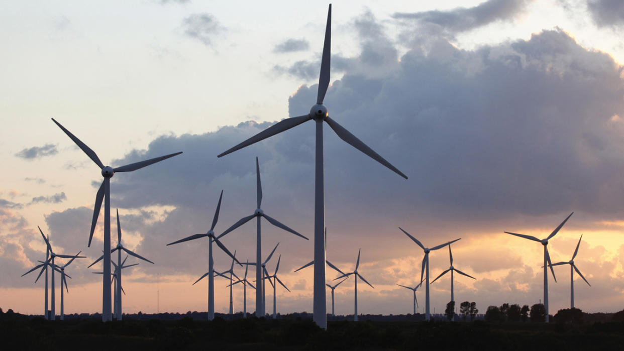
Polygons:
M401 173L396 167L392 166L378 153L361 142L348 130L338 124L338 122L329 118L329 113L323 105L325 93L329 87L329 65L331 56L331 4L327 14L327 25L325 27L325 41L323 44L323 56L321 59L321 72L318 81L318 95L316 105L310 109L310 113L299 117L286 118L272 125L266 130L248 138L244 142L227 150L218 157L225 156L228 153L244 148L260 140L266 139L278 133L284 132L290 128L296 127L308 120L316 122L316 160L314 166L314 262L325 261L325 244L323 237L323 228L325 226L325 209L324 209L324 185L323 185L323 122L327 122L329 127L334 130L339 138L344 142L362 151L364 154L378 161L382 165L390 168L398 175L407 179L407 176ZM258 274L256 272L256 274ZM259 277L258 277L259 279ZM314 266L314 322L321 328L327 329L326 315L326 296L325 296L325 266L318 264Z

